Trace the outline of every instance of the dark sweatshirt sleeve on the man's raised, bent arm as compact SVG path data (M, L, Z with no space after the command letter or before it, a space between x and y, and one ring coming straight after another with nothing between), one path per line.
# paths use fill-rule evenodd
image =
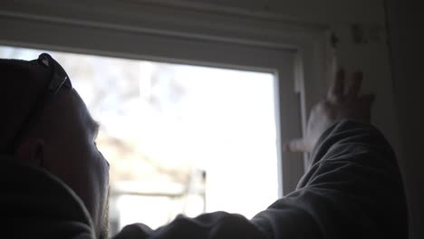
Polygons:
M323 133L311 160L297 189L251 220L225 212L178 216L156 231L134 230L143 236L120 238L407 237L399 168L378 129L341 120Z

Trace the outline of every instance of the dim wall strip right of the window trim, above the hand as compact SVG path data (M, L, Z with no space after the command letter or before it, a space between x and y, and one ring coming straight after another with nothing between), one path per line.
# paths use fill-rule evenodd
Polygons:
M227 2L227 1L225 1ZM242 7L242 1L234 5ZM248 1L254 2L254 1ZM389 139L398 155L400 137L394 105L393 82L390 78L389 47L383 38L385 18L382 1L255 1L262 11L281 14L294 22L322 24L340 39L338 62L348 72L364 72L363 91L375 92L377 100L372 121ZM246 5L252 9L252 4ZM266 9L266 10L265 10ZM368 43L354 43L352 24L360 24Z

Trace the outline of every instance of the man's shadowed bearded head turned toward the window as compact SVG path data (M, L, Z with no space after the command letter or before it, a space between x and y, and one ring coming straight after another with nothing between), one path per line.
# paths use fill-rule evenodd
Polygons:
M62 179L81 197L96 233L105 235L109 166L95 144L99 126L81 97L62 87L45 98L53 73L39 62L0 60L0 75L0 153Z

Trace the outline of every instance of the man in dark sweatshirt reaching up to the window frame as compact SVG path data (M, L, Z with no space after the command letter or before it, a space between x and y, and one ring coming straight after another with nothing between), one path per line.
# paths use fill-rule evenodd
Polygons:
M66 73L47 54L33 62L1 60L0 73L2 233L106 237L108 164L95 145L98 126ZM327 99L313 109L305 138L286 144L312 152L292 194L251 220L225 212L178 216L156 231L129 225L116 238L407 237L399 168L368 123L373 96L359 95L361 77L355 73L345 90L338 72Z

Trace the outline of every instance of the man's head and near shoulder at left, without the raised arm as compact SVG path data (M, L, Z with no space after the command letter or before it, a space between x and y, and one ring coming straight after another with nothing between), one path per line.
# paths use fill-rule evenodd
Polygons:
M106 237L109 168L95 145L98 125L66 73L47 54L1 60L0 72L2 231Z

